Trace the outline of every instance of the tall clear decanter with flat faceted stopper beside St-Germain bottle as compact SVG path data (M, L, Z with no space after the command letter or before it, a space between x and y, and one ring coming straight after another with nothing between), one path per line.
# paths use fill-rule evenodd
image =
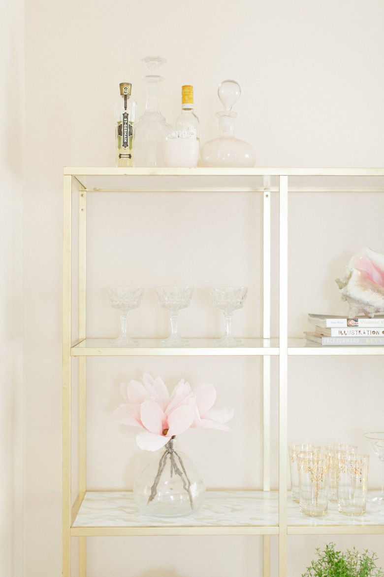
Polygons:
M172 132L172 127L159 111L158 87L164 78L154 72L166 60L158 56L147 56L140 62L147 65L150 74L143 77L146 82L146 106L144 114L136 123L134 166L165 166L164 141Z

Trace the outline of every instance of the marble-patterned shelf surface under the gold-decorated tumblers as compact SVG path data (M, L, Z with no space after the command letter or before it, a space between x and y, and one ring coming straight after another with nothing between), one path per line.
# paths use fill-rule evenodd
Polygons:
M300 512L299 504L293 503L288 494L288 525L305 527L322 527L329 525L367 527L384 524L384 503L378 504L373 499L380 494L379 491L369 491L367 510L364 515L348 516L339 513L337 503L328 503L328 512L323 517L309 517Z

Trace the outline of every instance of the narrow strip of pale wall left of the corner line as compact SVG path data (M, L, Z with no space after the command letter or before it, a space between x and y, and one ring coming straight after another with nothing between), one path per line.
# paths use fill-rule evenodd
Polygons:
M23 569L24 10L0 25L0 574Z

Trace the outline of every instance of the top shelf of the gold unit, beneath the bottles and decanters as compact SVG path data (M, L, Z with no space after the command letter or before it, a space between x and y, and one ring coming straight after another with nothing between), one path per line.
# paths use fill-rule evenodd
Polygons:
M87 192L277 191L279 175L290 192L382 192L383 168L64 168ZM214 177L214 178L212 178ZM356 178L358 177L358 178Z

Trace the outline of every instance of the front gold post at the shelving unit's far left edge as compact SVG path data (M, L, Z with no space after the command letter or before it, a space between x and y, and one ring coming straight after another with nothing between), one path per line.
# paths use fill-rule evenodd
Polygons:
M63 577L71 575L71 216L72 178L63 186Z

